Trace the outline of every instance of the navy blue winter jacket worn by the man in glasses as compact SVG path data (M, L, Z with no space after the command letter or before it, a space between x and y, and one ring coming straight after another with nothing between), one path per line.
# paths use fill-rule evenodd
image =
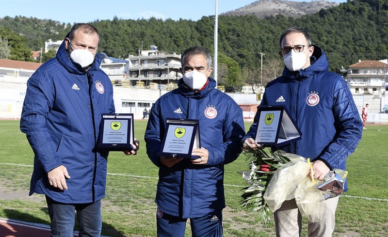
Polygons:
M285 67L283 75L266 86L260 106L284 105L302 132L301 140L279 149L320 159L330 170L346 170L346 158L361 140L362 122L345 80L328 71L323 50L314 46L310 60L309 67L296 72ZM254 138L258 119L243 140Z

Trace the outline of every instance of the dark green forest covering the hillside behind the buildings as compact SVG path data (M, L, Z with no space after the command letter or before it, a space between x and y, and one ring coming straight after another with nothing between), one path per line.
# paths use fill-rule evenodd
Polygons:
M326 53L329 69L337 73L358 60L387 59L387 19L388 0L348 0L299 18L219 16L219 83L237 88L242 83L258 84L261 55L263 84L278 77L283 70L278 55L279 36L292 26L310 32L313 44ZM150 45L165 52L181 53L194 45L214 51L214 16L203 16L198 21L114 17L90 23L101 35L98 51L110 57L126 58L136 55L142 46L149 49ZM64 39L70 28L71 24L54 20L4 17L0 19L0 58L8 55L9 59L28 61L31 50L40 50L48 39Z

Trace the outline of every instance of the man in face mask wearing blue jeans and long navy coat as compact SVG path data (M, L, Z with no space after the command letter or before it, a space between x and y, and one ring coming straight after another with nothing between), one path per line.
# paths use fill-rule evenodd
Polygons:
M108 151L97 147L102 113L114 113L113 87L99 69L97 29L75 24L55 58L27 82L20 130L34 152L30 195L45 194L52 237L99 237ZM136 155L139 142L132 144Z

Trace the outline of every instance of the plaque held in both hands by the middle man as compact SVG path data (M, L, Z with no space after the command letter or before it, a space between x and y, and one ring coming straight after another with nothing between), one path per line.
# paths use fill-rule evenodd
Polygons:
M166 119L161 151L162 157L197 159L192 156L194 148L201 148L199 139L199 121L194 119Z

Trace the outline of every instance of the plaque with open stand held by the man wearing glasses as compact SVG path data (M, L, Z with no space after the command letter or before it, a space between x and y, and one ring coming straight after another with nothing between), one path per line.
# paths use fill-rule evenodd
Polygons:
M302 132L284 106L262 106L259 107L258 113L255 135L258 144L277 147L301 139Z

